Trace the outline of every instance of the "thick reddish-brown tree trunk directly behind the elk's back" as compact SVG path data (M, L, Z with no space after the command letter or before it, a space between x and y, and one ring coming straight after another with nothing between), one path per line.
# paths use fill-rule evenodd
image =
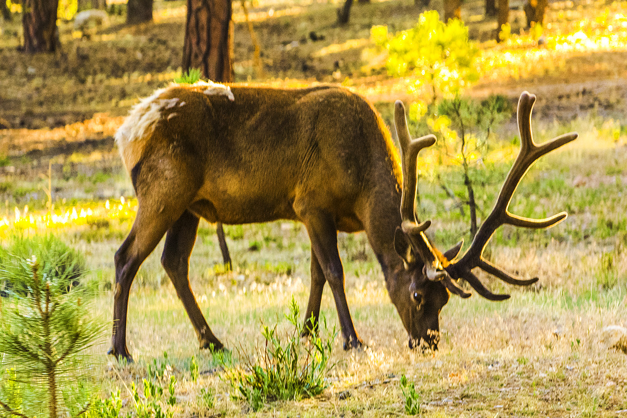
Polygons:
M233 81L231 0L187 0L183 70L198 68L209 80Z

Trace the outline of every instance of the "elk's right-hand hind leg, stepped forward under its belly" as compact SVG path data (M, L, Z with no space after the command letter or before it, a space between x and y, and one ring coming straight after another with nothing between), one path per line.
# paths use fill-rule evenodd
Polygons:
M182 301L187 316L192 322L200 348L221 350L224 346L209 329L207 321L200 310L194 293L189 286L189 256L196 242L199 218L185 211L174 222L166 234L166 244L161 256L161 264L172 280L176 294Z

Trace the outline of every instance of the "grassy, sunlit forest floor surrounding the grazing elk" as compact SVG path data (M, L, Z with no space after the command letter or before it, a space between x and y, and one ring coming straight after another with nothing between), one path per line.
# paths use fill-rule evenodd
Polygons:
M140 385L159 364L179 381L174 408L181 417L399 416L403 374L416 383L427 417L627 415L627 356L611 347L604 332L611 325L627 326L627 3L551 2L545 46L524 33L522 2L510 3L512 33L522 34L503 44L492 41L495 19L483 16L482 4L464 3L462 17L485 70L466 94L500 93L515 103L528 90L538 95L538 141L569 130L580 134L534 165L510 208L530 217L566 210L567 221L547 231L503 227L490 244L493 261L539 277L538 285L514 289L482 276L492 290L512 298L501 303L477 295L451 298L441 313L440 350L411 351L365 234L340 234L347 298L368 348L344 352L335 338L335 367L322 395L268 402L252 412L248 402L232 399L234 389L211 353L198 350L161 268L160 244L140 269L130 297L129 349L136 362L118 365L106 357L108 335L95 348L102 394L120 389L124 410L130 410L126 387ZM356 3L350 23L339 27L339 5L254 4L250 18L261 43L260 75L243 11L234 3L236 81L342 83L375 103L389 125L391 103L411 101L413 80L386 74L370 29L374 24L387 24L391 32L411 28L421 10L408 0ZM432 6L442 9L441 0ZM139 97L180 72L184 19L184 2L174 0L156 1L150 24L125 26L122 16L112 16L106 28L83 36L71 22L61 23L61 50L37 56L16 50L18 16L0 26L0 122L6 125L0 130L0 233L55 233L82 251L88 278L100 290L93 304L103 321L112 316L113 254L137 210L113 133ZM502 141L494 147L500 154L487 159L493 172L478 192L485 211L511 164L515 117L497 133ZM507 161L498 155L507 155ZM421 209L433 219L436 243L446 247L468 234L467 211L462 215L456 206L465 193L463 180L455 167L429 168L450 180L456 196L443 191L435 174L421 180ZM60 214L53 226L41 221L48 192ZM263 347L260 321L289 330L283 314L290 296L304 310L310 244L295 222L226 226L226 234L234 271L219 263L214 226L201 222L190 278L209 324L237 362ZM322 312L330 325L337 324L329 290ZM192 356L200 367L196 381L189 371ZM201 402L207 388L215 394L211 408Z

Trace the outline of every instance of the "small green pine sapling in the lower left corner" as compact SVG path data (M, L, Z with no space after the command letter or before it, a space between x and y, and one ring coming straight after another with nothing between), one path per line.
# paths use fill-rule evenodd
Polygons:
M14 283L10 288L19 283L22 291L9 291L9 300L2 306L0 352L20 380L40 392L40 399L47 398L48 416L57 418L63 406L65 410L76 406L64 405L64 398L77 400L65 392L75 389L71 384L81 377L83 352L95 343L101 327L88 319L84 292L68 288L68 275L75 271L62 269L65 274L49 275L42 273L41 264L36 258L22 260L6 277ZM4 400L0 407L9 415L26 417ZM40 414L42 410L36 415Z

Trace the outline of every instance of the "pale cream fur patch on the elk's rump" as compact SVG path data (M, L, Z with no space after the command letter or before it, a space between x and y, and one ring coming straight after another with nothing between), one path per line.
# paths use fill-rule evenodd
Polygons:
M157 123L164 118L164 110L171 109L178 105L182 107L185 102L179 98L160 99L161 95L172 88L186 88L199 91L206 95L224 96L233 102L235 97L229 86L214 83L213 81L198 81L194 84L171 83L167 88L156 90L150 97L140 100L137 105L131 108L129 116L122 126L115 133L115 142L120 150L120 155L124 161L126 169L130 170L139 162L144 149L145 141L154 132ZM176 113L167 115L167 120L174 117Z

